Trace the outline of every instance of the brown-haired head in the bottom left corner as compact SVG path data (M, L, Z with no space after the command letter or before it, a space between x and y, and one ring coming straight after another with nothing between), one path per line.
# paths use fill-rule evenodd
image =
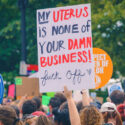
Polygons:
M12 107L0 106L0 125L22 125L22 122Z

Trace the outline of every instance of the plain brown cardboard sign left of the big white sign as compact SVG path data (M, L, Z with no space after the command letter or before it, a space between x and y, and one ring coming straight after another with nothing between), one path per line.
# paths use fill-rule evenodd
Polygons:
M16 77L21 79L22 84L16 84L16 96L38 96L39 95L39 79L28 77Z

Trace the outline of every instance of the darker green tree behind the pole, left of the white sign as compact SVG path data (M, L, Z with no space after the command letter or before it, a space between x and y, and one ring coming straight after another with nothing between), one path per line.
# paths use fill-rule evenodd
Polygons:
M36 10L55 7L66 0L29 0L26 8L27 64L37 64ZM20 10L15 0L0 0L0 73L6 81L19 75L21 60Z

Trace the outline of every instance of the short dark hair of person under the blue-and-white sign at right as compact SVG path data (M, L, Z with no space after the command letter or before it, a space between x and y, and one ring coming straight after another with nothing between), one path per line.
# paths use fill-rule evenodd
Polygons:
M122 104L124 102L124 93L119 90L114 90L110 95L110 99L115 105Z

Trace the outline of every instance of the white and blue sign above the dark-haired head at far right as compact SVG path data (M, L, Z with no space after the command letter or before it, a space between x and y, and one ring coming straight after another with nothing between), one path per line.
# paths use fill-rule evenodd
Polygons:
M114 83L113 85L108 86L108 94L110 95L114 90L123 91L121 83Z

